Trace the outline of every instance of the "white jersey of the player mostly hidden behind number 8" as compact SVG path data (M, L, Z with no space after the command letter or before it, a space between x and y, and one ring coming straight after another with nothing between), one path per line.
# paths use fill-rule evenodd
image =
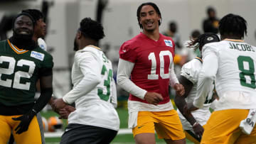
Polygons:
M187 62L181 68L181 76L186 77L186 79L193 83L191 92L185 99L187 103L192 103L196 97L198 75L203 65L202 62L203 61L201 60L201 58L196 57L195 59ZM193 117L196 118L196 121L198 121L198 123L200 123L201 126L205 125L206 122L208 121L208 118L210 118L209 108L210 104L212 103L214 84L211 85L210 89L212 90L208 93L206 101L203 104L203 108L191 112L193 114ZM191 124L186 120L186 118L181 114L180 111L178 111L178 116L181 119L181 123L183 125L184 130L193 130Z

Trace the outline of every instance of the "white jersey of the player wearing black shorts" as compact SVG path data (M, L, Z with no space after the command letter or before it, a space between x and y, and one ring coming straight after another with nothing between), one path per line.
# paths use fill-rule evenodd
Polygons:
M63 96L68 104L75 102L76 110L68 116L68 123L119 130L117 91L112 63L93 45L75 53L72 68L73 89Z

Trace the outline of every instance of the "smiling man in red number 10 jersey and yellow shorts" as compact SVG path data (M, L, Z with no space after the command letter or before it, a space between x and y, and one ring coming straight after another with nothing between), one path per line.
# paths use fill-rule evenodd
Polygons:
M174 41L159 33L156 4L139 6L137 18L143 31L121 46L117 72L117 84L130 93L129 128L139 144L156 143L155 131L166 143L186 143L168 90L171 85L178 95L184 94L174 73Z

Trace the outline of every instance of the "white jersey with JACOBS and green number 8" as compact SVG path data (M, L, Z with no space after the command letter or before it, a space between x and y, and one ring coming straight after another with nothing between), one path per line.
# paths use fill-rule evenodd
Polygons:
M256 109L256 48L254 46L243 40L231 39L208 43L203 47L203 60L203 65L210 67L210 70L204 70L205 75L215 77L216 91L220 97L215 105L216 111ZM203 92L205 89L203 85L207 84L202 83L198 92ZM202 102L203 99L198 98L194 101L194 105L200 106Z

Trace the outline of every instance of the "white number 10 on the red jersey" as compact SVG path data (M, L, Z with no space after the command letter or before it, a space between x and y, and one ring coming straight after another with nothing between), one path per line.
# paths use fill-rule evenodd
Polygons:
M170 70L168 68L168 73L164 73L164 56L169 56L170 59L170 64L169 67L171 67L171 59L172 55L169 50L164 50L159 53L159 58L160 58L160 77L162 79L169 79L170 77ZM156 74L156 56L154 52L149 53L149 60L151 60L151 73L148 74L148 79L159 79L159 75Z

